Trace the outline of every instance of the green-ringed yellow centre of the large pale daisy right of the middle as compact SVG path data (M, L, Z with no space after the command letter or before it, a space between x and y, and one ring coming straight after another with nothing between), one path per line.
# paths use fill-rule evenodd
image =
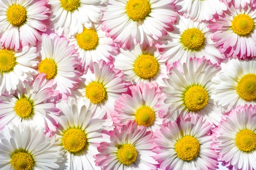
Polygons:
M208 93L201 86L190 87L185 93L184 103L191 111L201 110L208 103Z

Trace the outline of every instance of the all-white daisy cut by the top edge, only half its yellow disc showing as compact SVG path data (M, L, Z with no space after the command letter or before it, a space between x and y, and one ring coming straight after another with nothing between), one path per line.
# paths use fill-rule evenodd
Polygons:
M90 29L99 24L102 11L108 0L49 0L52 5L52 29L58 35L71 37L83 32L83 27Z

